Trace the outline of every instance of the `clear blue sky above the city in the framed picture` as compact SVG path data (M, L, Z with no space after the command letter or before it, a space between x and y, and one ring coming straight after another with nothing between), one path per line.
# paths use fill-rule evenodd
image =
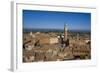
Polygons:
M63 29L64 24L67 24L69 30L90 30L91 14L23 10L24 28Z

